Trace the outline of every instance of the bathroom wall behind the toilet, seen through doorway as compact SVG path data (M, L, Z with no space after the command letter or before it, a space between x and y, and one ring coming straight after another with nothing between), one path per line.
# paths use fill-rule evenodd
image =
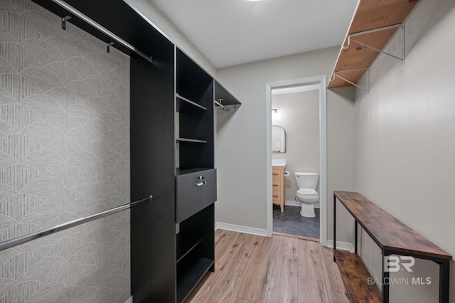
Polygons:
M272 159L286 159L284 196L294 201L297 186L294 172L319 173L319 90L272 95L272 125L286 131L286 152L273 153Z

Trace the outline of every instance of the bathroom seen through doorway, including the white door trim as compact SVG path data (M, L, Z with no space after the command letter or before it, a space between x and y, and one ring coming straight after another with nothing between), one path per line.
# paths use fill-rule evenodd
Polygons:
M326 245L326 77L268 83L266 101L267 233L317 238ZM274 204L279 186L272 180L273 164L284 165L284 212ZM276 174L277 166L274 167ZM296 172L297 175L301 172L319 174L310 195L313 198L308 199L306 195L302 198ZM301 179L299 181L301 185ZM315 193L319 199L314 199ZM307 202L305 211L301 208L301 200ZM316 201L318 203L314 204ZM308 206L310 213L306 213ZM311 216L313 208L314 217Z

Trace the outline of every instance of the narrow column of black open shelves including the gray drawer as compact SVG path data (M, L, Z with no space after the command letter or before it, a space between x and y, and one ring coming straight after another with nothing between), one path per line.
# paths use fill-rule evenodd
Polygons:
M176 48L177 302L215 271L213 78Z

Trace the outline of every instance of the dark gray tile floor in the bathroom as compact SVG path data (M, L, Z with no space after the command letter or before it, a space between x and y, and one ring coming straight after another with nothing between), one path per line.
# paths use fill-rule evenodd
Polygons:
M319 239L319 208L314 208L316 217L300 216L299 206L284 206L282 213L279 206L273 206L273 231L290 235Z

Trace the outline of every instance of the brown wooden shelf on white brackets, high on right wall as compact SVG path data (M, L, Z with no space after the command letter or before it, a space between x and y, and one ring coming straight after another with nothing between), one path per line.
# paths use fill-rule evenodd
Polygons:
M383 53L392 36L404 31L402 24L417 2L419 0L360 0L327 88L358 86L358 80ZM392 56L404 59L404 54L402 58Z

